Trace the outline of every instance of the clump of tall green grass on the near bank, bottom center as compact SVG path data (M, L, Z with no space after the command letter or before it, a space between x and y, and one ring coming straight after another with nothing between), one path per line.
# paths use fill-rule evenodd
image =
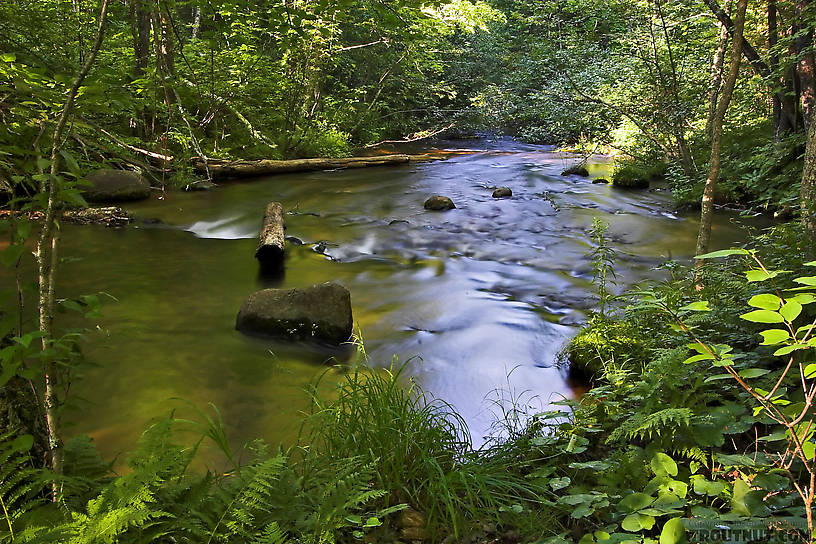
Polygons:
M458 537L468 522L543 504L544 489L514 470L510 450L475 451L462 417L405 377L405 368L396 360L388 369L357 368L336 398L314 396L306 460L319 466L362 457L375 466L374 485L389 491L383 500L423 512L437 535Z

